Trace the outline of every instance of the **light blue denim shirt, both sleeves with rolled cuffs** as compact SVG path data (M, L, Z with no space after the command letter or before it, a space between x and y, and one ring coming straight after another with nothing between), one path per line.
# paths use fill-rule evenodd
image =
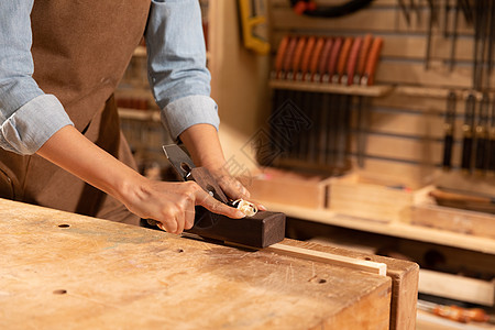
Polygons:
M0 146L18 154L35 153L59 129L73 125L58 99L32 78L33 2L0 1ZM150 84L170 135L177 139L197 123L218 129L199 2L152 0L145 37Z

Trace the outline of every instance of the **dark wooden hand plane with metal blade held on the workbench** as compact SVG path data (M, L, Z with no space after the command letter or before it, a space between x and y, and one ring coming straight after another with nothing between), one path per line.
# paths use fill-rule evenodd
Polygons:
M206 167L196 167L186 152L178 145L164 145L166 157L182 180L195 180L202 189L223 204L232 206L223 190ZM196 207L195 224L187 230L206 239L227 241L252 248L266 248L285 238L285 215L257 211L254 216L231 219Z

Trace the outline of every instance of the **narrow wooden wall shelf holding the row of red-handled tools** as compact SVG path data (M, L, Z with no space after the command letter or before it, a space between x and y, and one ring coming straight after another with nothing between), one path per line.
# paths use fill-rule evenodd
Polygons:
M289 80L270 80L270 87L275 89L289 89L289 90L304 90L304 91L316 91L316 92L332 92L332 94L344 94L344 95L355 95L365 97L382 97L387 95L394 88L389 85L376 85L376 86L359 86L351 85L344 86L339 84L323 84L323 82L301 82L301 81L289 81Z

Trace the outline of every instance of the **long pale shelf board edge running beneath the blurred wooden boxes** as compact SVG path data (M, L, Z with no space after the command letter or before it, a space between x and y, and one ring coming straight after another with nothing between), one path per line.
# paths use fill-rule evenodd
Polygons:
M301 220L327 223L349 229L367 231L389 237L436 243L476 252L495 254L495 240L474 235L454 233L404 222L378 222L339 215L329 210L294 207L262 201L271 211L279 211Z

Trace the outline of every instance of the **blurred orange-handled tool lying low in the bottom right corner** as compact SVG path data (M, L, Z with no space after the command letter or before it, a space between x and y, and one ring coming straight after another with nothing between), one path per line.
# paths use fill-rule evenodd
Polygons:
M471 321L495 323L494 316L487 315L486 311L481 308L462 308L454 305L444 306L425 300L418 300L418 309L461 323L468 323Z

